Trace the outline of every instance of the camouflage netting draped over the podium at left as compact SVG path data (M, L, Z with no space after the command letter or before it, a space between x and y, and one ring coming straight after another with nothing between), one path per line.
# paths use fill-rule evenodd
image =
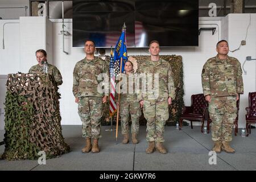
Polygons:
M5 101L7 160L54 158L69 152L61 134L57 86L47 74L9 74Z

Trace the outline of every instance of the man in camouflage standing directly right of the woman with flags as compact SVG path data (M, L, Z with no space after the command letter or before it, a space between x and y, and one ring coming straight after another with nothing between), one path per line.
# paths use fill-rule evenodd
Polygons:
M175 97L174 78L170 63L159 57L158 41L153 40L148 51L151 55L150 59L139 68L139 73L143 73L147 77L147 90L144 92L144 86L142 86L143 88L138 94L139 104L143 107L144 117L147 119L146 140L149 144L146 153L154 152L156 142L156 149L160 153L166 154L167 150L163 146L163 133L164 125L169 118L168 105L171 105L172 99ZM150 75L152 75L151 78ZM154 90L148 90L151 84L154 85Z

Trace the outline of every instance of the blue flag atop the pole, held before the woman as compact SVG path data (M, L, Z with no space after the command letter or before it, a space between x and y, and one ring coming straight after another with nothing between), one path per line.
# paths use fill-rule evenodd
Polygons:
M114 61L119 61L119 67L122 57L122 73L125 70L125 61L127 60L127 49L126 49L126 37L125 30L122 30L122 34L118 39L117 46L115 46L114 51Z

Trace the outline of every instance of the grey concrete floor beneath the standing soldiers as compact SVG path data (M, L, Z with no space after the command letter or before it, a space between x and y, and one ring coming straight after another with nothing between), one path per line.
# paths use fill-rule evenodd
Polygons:
M200 127L183 127L181 131L174 126L166 126L164 138L168 153L158 151L146 154L146 126L140 127L139 144L122 144L119 128L118 144L115 144L115 131L105 131L102 126L102 138L99 140L101 152L83 154L85 139L81 137L81 126L63 126L65 142L71 152L58 158L46 160L39 165L37 160L7 161L0 160L0 170L86 170L86 171L162 171L162 170L256 170L256 130L249 137L242 138L241 130L233 137L232 147L235 154L221 152L217 154L217 164L209 164L209 151L213 146L210 134L200 132ZM0 131L0 140L3 131ZM4 146L0 146L0 154Z

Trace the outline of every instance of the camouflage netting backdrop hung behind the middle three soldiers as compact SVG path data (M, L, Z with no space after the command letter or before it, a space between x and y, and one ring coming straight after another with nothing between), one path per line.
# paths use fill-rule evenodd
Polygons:
M150 56L129 56L129 60L134 65L134 72L138 73L138 68L141 64L149 59ZM168 60L172 67L172 72L174 73L174 85L175 85L175 100L172 101L172 105L169 107L170 117L166 123L168 126L175 125L176 122L179 122L179 118L181 115L182 108L184 106L183 96L183 65L182 65L182 57L177 55L160 55L160 58L164 60ZM109 65L110 57L106 56L105 61L107 61ZM119 73L119 64L118 62L115 63L115 74ZM117 118L117 114L113 117L113 123L115 124ZM146 119L142 114L140 118L140 125L146 125ZM104 104L104 117L102 118L102 125L109 125L109 102ZM186 125L187 123L184 123Z

